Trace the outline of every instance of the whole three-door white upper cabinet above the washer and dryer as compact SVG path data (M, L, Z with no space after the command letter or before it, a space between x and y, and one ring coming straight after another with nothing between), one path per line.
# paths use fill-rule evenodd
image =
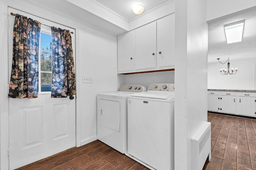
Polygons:
M118 73L174 69L175 14L118 36Z

